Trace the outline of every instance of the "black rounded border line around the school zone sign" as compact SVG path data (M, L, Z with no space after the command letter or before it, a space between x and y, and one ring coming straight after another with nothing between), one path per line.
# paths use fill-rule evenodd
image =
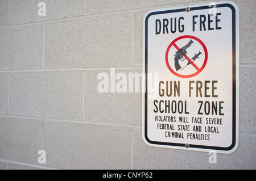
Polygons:
M233 102L232 102L232 118L233 118L233 125L232 125L232 144L229 147L219 147L219 146L205 146L205 145L189 145L189 148L200 148L200 149L210 149L210 150L224 150L229 151L236 146L236 9L233 5L229 3L223 3L216 5L216 8L218 7L229 7L232 10L232 71L233 71ZM210 6L198 6L198 7L191 7L190 11L195 10L203 10L203 9L211 9ZM173 13L173 12L185 12L185 8L182 9L175 9L175 10L165 10L165 11L156 11L151 12L148 14L145 18L145 74L146 74L146 92L144 93L144 137L150 144L155 145L168 145L168 146L180 146L185 147L185 144L179 144L179 143L172 143L172 142L159 142L159 141L151 141L147 137L147 59L148 59L148 18L151 15L158 15L158 14L167 14L167 13Z

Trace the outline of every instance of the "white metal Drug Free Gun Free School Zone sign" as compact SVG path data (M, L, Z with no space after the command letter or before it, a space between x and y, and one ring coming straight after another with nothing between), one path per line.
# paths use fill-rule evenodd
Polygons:
M233 153L238 147L239 12L233 2L147 12L143 140Z

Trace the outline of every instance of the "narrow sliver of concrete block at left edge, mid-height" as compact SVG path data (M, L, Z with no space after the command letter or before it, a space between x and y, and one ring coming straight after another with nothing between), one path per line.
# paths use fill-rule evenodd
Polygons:
M0 73L0 115L7 114L7 73Z

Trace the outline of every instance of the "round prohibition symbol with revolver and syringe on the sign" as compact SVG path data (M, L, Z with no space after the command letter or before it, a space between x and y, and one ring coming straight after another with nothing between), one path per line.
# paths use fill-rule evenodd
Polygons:
M189 40L189 42L185 44L183 47L179 48L177 43L180 40L183 40L183 42L184 40ZM195 43L197 43L197 45L195 45L193 49L195 48L197 49L200 46L200 49L203 49L202 51L203 53L200 50L197 50L196 52L194 52L195 55L192 58L189 58L188 49L192 47L193 44ZM169 56L170 52L173 52L174 50L175 50L174 52L175 55L173 57ZM195 64L195 61L197 60L197 58L198 60L203 62L201 66L197 66L197 64ZM187 60L187 62L183 67L181 67L180 63L185 60ZM208 60L207 48L205 47L205 44L203 43L203 41L201 41L199 38L195 36L185 35L185 36L177 37L174 41L171 42L171 44L168 46L166 50L166 65L168 69L171 71L171 73L181 78L191 78L199 74L205 68L205 65L207 64L207 60ZM189 65L193 67L193 70L191 70L190 73L186 74L187 70L184 68Z

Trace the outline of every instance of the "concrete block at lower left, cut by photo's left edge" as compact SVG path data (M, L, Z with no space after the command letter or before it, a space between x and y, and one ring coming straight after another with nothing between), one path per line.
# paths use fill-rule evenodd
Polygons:
M0 159L38 164L41 121L0 117L0 125Z

